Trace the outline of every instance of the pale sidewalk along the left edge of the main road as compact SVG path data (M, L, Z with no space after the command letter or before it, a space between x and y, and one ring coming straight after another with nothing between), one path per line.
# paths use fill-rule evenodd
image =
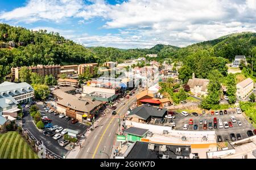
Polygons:
M96 122L94 122L93 126L97 126L100 121L102 120L102 118L104 117L100 117L98 118L98 120ZM88 139L90 133L91 133L91 130L89 130L90 128L92 128L92 126L90 126L88 128L88 130L86 131L86 133L84 134L85 137L81 137L80 138L80 141L79 143L77 143L77 145L75 146L75 148L73 148L73 150L69 151L67 156L66 156L66 159L76 159L77 155L79 154L80 150L81 150L81 147L80 145L83 147L85 145L85 142L86 142L86 139Z

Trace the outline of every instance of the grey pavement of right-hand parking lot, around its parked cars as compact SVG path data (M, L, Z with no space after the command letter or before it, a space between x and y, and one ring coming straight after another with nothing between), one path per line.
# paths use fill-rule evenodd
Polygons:
M207 122L209 123L209 122L213 122L213 118L216 117L217 120L220 119L222 122L225 122L225 121L230 122L231 116L234 116L236 117L237 121L241 121L242 126L238 126L237 122L233 122L232 128L229 127L228 129L225 129L225 128L220 129L219 126L217 126L217 129L207 128L207 130L210 130L210 131L215 130L216 135L221 135L222 140L224 140L224 137L230 140L230 133L234 133L234 134L240 133L242 136L242 139L247 138L248 137L247 130L254 130L254 127L249 122L247 122L246 118L243 117L242 114L237 114L235 109L229 109L227 111L228 111L228 114L223 114L223 115L220 115L220 114L211 115L207 112L205 114L199 114L199 116L193 116L192 114L189 114L189 116L185 117L182 114L176 114L175 115L176 117L174 119L174 122L176 124L175 129L183 130L184 124L189 124L189 120L192 119L193 125L195 124L198 125L197 131L204 131L203 124L202 125L199 124L200 120L201 121L207 120ZM193 125L189 125L188 130L194 131Z

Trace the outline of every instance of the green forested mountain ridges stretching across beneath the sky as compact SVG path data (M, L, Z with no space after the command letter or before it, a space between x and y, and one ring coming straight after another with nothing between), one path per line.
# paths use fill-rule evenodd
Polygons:
M158 54L158 59L172 58L185 61L187 57L191 58L196 53L200 53L200 50L207 50L211 57L223 57L232 61L236 55L251 55L251 49L256 46L256 33L234 33L185 48L158 44L151 49L125 50L101 46L85 48L72 40L65 39L59 33L47 33L46 30L30 31L22 27L0 24L0 47L1 44L7 44L9 41L15 42L15 48L0 48L1 77L9 74L10 68L16 66L122 62L125 59L145 57L146 54L152 53Z

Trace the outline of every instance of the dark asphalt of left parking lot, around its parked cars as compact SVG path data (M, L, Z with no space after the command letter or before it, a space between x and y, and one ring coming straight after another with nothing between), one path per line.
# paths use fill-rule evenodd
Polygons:
M55 116L54 113L47 113L44 111L43 105L42 104L37 104L39 107L39 111L41 113L45 113L46 116L52 120L52 125L58 125L63 127L63 129L71 129L71 130L76 130L79 132L78 135L84 134L85 131L88 129L88 126L84 124L80 124L79 122L76 123L75 125L71 123L71 120L65 121L64 118L59 118L58 116ZM52 137L48 137L46 135L43 135L42 132L40 132L34 122L32 122L32 117L29 114L30 109L23 109L24 117L23 117L23 129L28 129L30 133L39 141L42 141L46 148L50 151L52 151L54 154L63 156L68 153L67 147L62 147L59 145L58 141L53 139Z

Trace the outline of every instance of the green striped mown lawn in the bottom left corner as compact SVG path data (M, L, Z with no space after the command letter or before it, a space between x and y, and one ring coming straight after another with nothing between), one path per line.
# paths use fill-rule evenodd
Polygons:
M0 134L0 159L35 159L38 155L16 131Z

